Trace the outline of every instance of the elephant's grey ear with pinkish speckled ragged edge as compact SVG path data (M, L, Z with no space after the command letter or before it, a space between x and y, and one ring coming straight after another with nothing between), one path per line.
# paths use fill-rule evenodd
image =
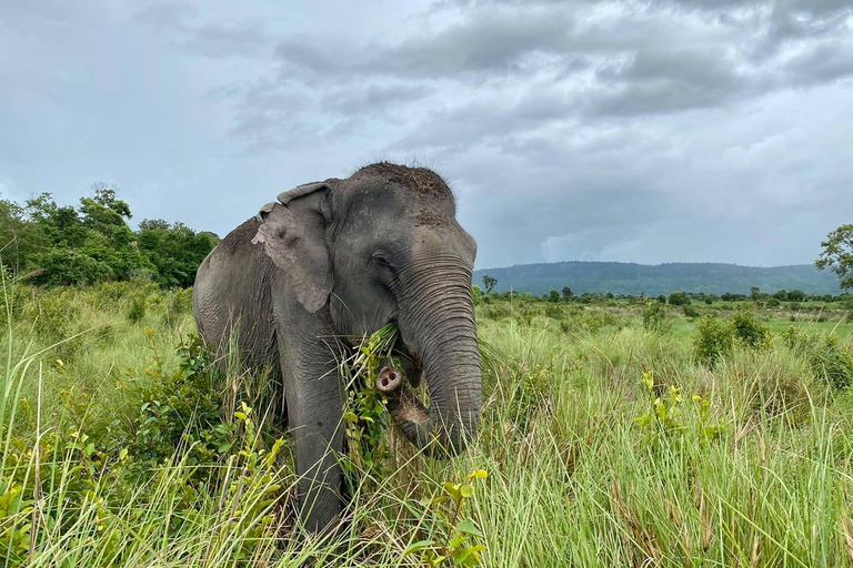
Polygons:
M333 285L325 243L331 182L300 185L261 207L252 239L290 276L297 300L312 314L325 305Z

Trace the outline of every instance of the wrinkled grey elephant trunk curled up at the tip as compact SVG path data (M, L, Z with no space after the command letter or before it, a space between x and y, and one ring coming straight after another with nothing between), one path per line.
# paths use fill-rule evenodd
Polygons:
M429 408L401 382L389 409L407 438L433 457L463 452L480 419L480 349L476 342L470 271L458 265L418 278L400 304L403 342L421 362L430 393ZM446 274L460 274L448 280Z

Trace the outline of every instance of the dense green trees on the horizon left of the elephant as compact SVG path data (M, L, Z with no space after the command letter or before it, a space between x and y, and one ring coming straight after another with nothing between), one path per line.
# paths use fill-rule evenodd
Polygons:
M0 262L21 280L44 286L141 277L163 287L192 286L204 256L219 243L183 223L144 220L133 231L117 187L97 183L77 206L50 193L23 204L0 200Z

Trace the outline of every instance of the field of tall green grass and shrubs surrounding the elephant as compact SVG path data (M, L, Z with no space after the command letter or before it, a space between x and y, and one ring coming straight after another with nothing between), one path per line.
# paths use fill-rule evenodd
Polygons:
M342 456L347 519L315 537L274 385L212 365L188 291L0 297L3 566L853 562L842 311L480 305L478 442L434 462L381 407L352 422L374 447Z

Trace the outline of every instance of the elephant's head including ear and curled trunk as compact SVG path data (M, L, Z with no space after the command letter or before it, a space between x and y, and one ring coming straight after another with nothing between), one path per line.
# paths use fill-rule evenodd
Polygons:
M382 162L282 193L259 217L253 242L289 275L304 310L328 310L342 335L398 325L407 374L415 384L423 375L430 397L428 408L383 375L405 436L436 457L463 450L481 404L471 296L476 244L456 222L444 181Z

